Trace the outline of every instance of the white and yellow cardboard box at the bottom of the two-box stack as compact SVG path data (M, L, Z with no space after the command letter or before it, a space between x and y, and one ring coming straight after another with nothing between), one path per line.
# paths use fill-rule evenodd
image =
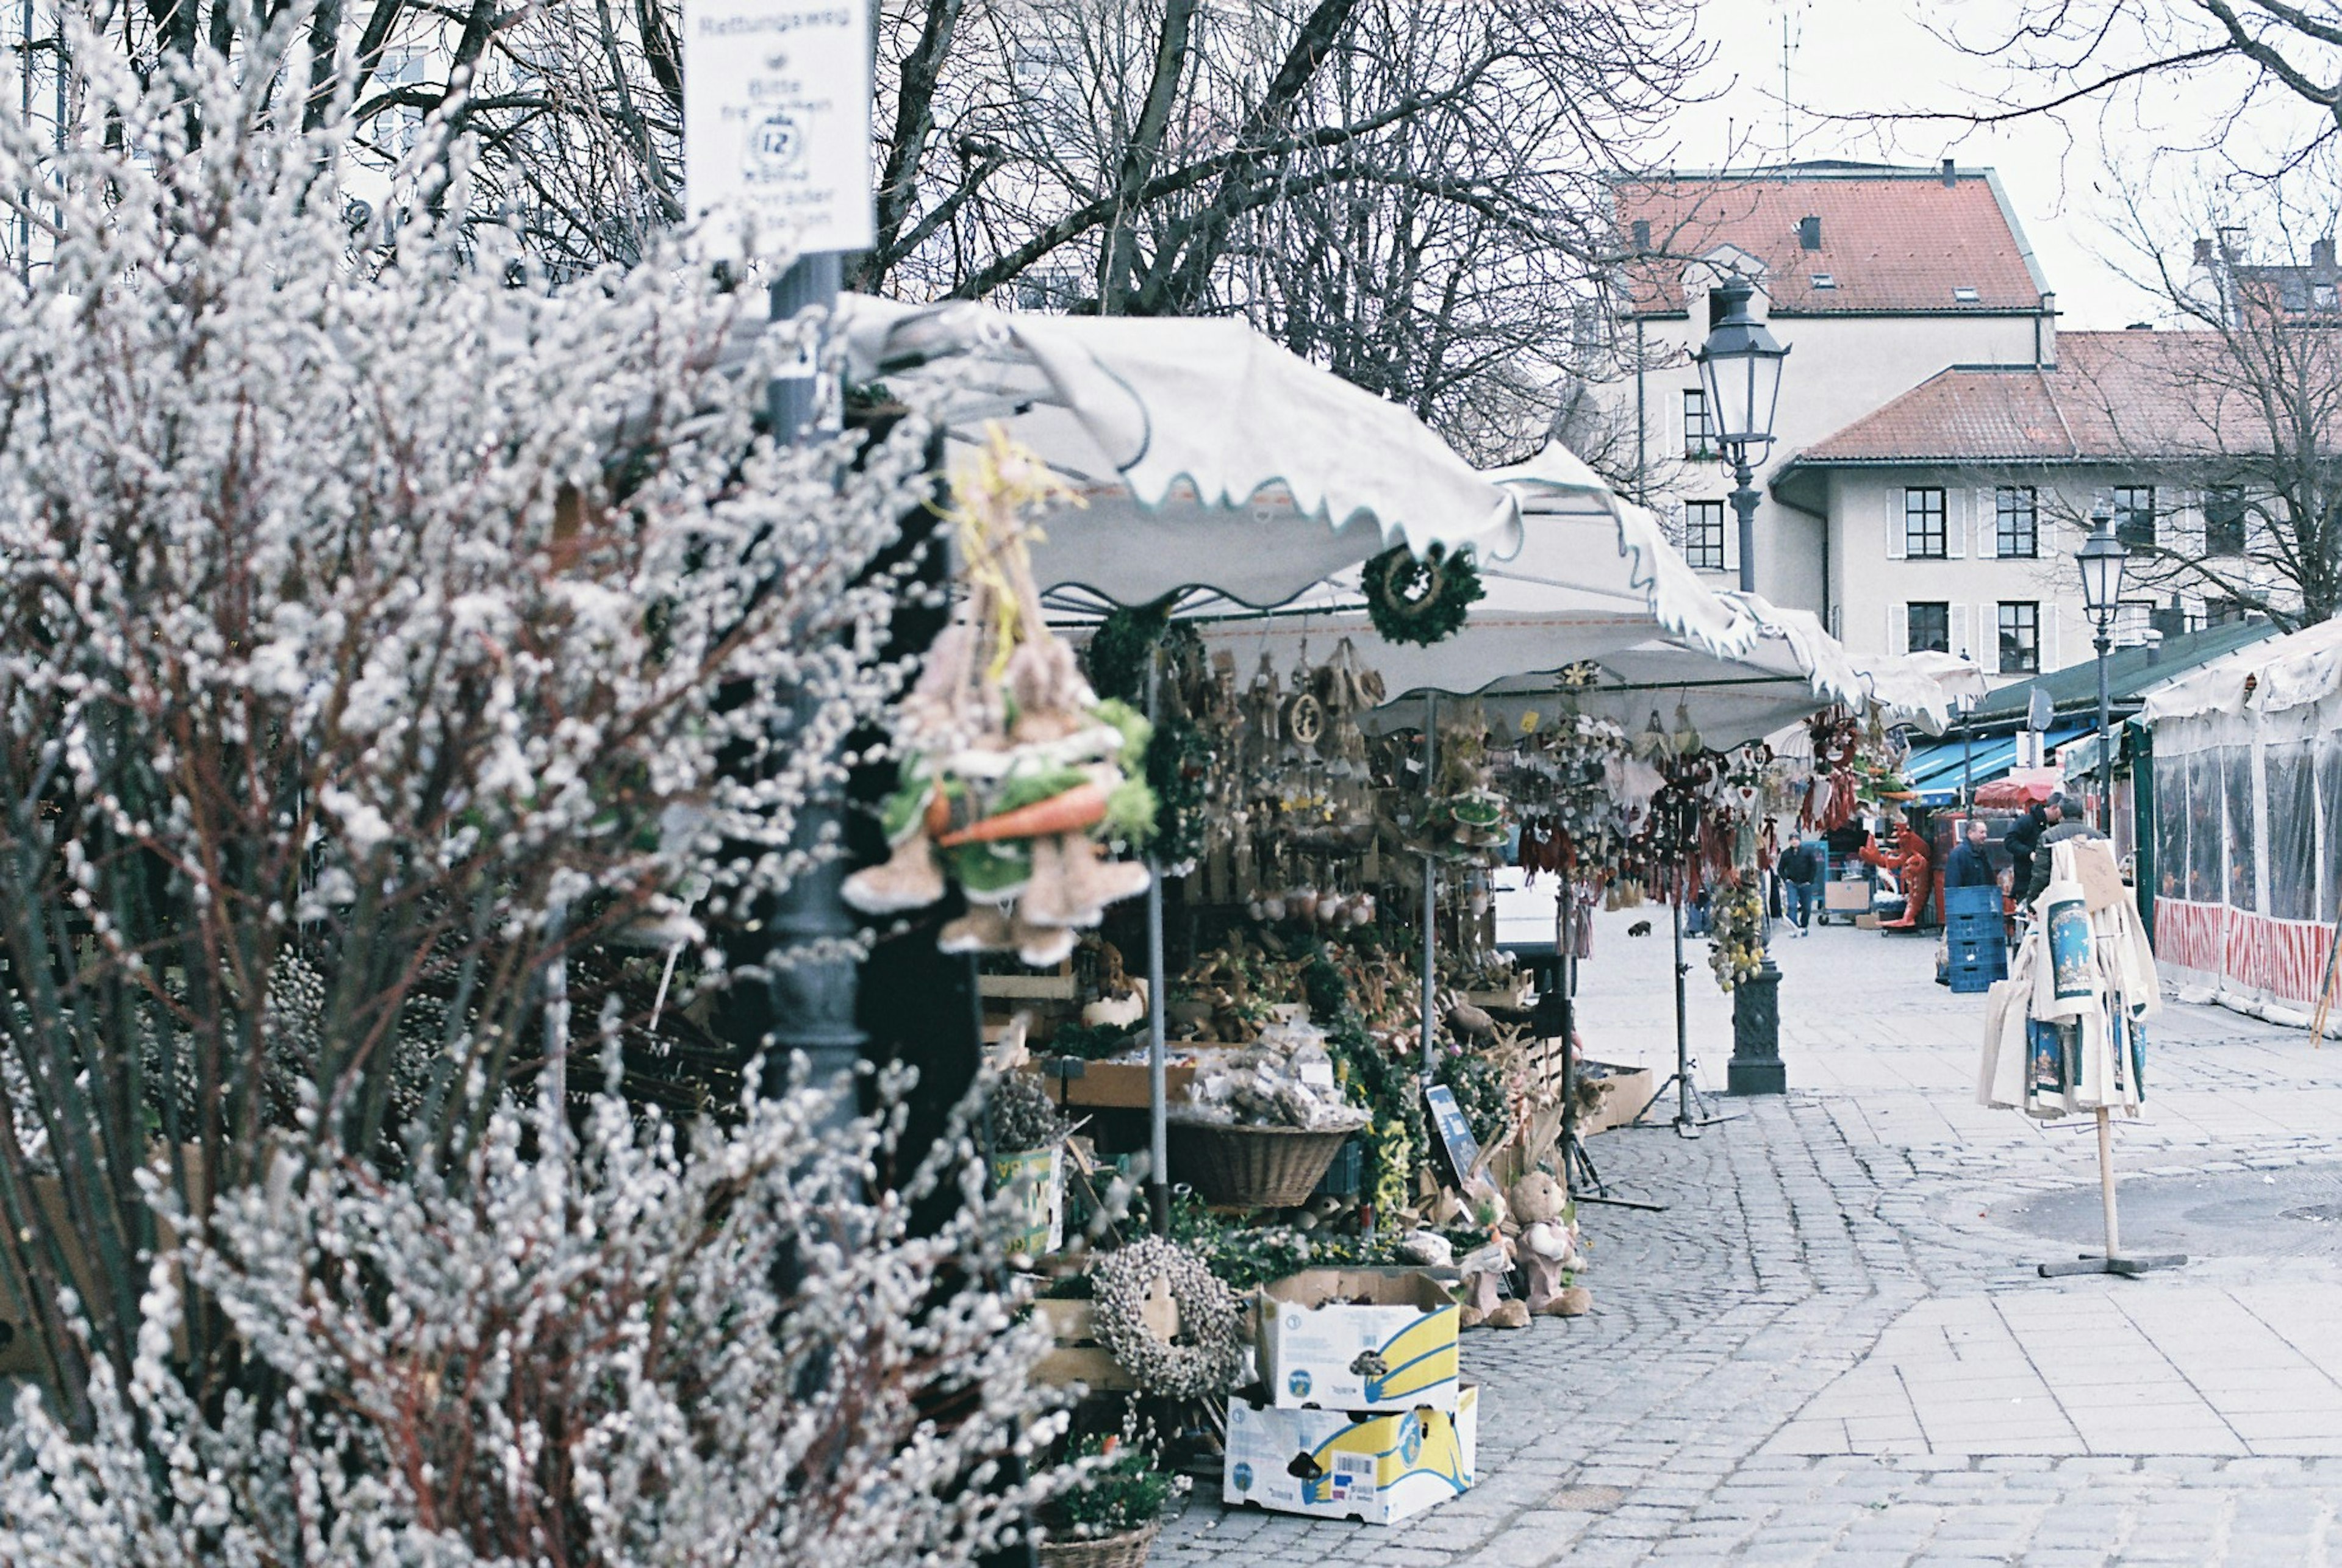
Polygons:
M1398 1524L1473 1486L1480 1388L1454 1411L1286 1411L1227 1402L1220 1500L1279 1514Z

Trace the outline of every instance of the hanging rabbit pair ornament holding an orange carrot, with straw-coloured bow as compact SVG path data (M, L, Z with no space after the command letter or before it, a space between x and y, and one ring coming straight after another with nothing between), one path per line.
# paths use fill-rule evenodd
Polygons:
M946 953L1056 964L1075 929L1148 887L1145 866L1103 854L1155 828L1148 721L1101 702L1042 620L1023 513L1070 491L993 426L953 494L965 592L902 702L902 784L883 810L892 857L845 878L843 896L895 915L941 899L949 875L967 913L944 927Z

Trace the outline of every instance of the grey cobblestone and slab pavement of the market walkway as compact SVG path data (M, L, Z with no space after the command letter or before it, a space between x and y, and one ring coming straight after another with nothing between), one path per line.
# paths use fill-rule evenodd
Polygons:
M1597 931L1581 1027L1590 1055L1665 1074L1665 927L1630 941L1628 920ZM1227 1512L1199 1484L1155 1561L2342 1563L2342 1264L2239 1219L2180 1271L2038 1278L2075 1250L2052 1219L2096 1182L2089 1123L1974 1105L1981 999L1930 981L1930 941L1775 948L1792 1093L1712 1098L1733 1119L1696 1140L1590 1140L1614 1191L1670 1208L1583 1205L1588 1318L1466 1336L1471 1493L1370 1528ZM1728 1006L1705 943L1686 960L1712 1086ZM2148 1084L2117 1130L2136 1191L2258 1172L2272 1205L2333 1194L2342 1048L2171 1006ZM2152 1226L2124 1240L2159 1250Z

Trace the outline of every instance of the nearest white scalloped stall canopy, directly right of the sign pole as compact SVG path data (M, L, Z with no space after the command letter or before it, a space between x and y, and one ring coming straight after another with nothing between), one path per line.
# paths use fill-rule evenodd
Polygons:
M1019 316L838 300L848 372L934 410L951 440L1000 421L1087 501L1042 520L1042 590L1150 604L1213 587L1281 604L1405 541L1520 545L1515 496L1408 410L1241 321ZM1590 473L1586 475L1600 487Z

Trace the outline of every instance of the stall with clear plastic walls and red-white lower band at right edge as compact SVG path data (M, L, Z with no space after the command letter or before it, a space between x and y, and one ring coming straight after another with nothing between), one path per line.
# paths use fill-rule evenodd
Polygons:
M2155 688L2141 723L2157 962L2183 997L2309 1023L2335 999L2342 623Z

